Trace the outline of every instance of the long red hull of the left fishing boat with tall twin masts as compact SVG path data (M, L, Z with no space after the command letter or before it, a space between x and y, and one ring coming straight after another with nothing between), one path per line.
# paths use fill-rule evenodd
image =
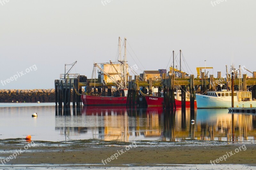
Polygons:
M82 95L81 100L84 105L126 105L127 97L109 96L88 96Z

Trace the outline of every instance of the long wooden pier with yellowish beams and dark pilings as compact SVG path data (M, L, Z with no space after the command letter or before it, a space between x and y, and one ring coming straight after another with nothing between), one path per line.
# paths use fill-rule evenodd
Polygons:
M139 88L142 87L145 89L148 87L149 95L152 94L152 88L158 88L158 95L160 96L160 89L162 88L164 91L164 107L165 108L175 108L175 100L174 100L174 87L180 86L181 88L181 100L182 108L185 108L186 102L186 93L185 91L190 92L190 106L191 109L194 109L194 101L195 101L195 93L201 92L204 93L207 90L220 90L222 85L225 84L227 86L231 85L231 82L227 82L230 80L231 75L227 75L227 78L221 77L221 72L218 72L218 77L214 78L213 75L205 76L202 72L202 78L195 78L194 75L190 75L189 77L185 72L182 72L181 76L178 77L175 74L169 73L169 76L166 76L166 73L162 73L160 78L156 81L152 81L149 78L148 81L140 81L138 76L134 76L132 80L132 76L129 77L128 80L128 94L127 94L127 106L135 106L138 105L141 101L139 99ZM252 78L247 78L247 75L244 74L242 79L239 79L235 76L234 78L234 86L236 89L239 89L239 84L243 84L243 90L252 91L252 98L256 99L256 72L253 72ZM101 83L99 79L87 79L86 81L81 82L80 78L66 78L65 80L55 80L55 104L57 106L64 108L70 107L70 96L71 89L73 89L73 107L81 107L81 93L82 88L85 86L91 86L98 92L101 92L102 95L111 95L111 88L116 86L115 83ZM105 92L105 89L108 89L108 93Z

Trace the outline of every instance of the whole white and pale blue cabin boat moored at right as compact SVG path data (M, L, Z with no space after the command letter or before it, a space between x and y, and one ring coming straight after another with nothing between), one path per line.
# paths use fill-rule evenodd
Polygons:
M228 108L231 107L231 91L208 91L206 95L196 94L197 108ZM252 92L234 91L234 107L256 107L252 100Z

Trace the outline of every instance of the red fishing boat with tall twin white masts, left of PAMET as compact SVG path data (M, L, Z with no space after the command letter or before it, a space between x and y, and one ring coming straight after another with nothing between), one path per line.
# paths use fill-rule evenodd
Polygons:
M84 105L126 105L127 101L127 78L129 77L128 64L126 63L126 38L124 38L124 59L121 58L121 38L118 41L119 59L118 62L110 63L94 63L92 75L96 75L98 72L98 78L100 77L102 83L102 91L99 92L99 88L94 85L93 89L90 85L93 85L93 78L90 85L85 87L85 94L81 95L81 100ZM99 70L99 71L97 71ZM94 82L95 82L94 78ZM106 83L114 83L112 85L111 92L108 91L106 96L105 89ZM108 89L109 90L109 89ZM111 94L113 94L111 96Z

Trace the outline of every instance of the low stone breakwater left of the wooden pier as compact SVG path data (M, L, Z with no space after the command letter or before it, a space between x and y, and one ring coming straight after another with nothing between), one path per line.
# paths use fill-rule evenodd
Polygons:
M0 90L0 102L55 102L55 89Z

